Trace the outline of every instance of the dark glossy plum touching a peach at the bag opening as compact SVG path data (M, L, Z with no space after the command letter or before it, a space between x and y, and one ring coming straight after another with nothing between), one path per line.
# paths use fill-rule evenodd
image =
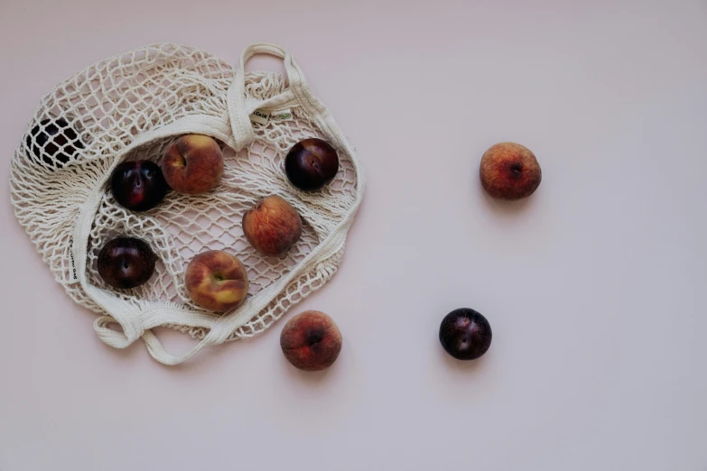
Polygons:
M120 206L133 211L154 208L164 199L167 189L162 169L150 161L123 162L110 177L113 198Z

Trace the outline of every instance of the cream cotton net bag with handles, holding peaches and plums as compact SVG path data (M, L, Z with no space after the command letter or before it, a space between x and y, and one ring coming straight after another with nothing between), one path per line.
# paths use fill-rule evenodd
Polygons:
M287 77L245 73L258 53L283 59ZM271 118L252 123L256 110ZM169 192L146 212L118 205L108 188L116 165L157 162L181 134L219 142L219 186L198 196ZM294 188L283 170L289 149L310 137L333 145L340 160L336 178L313 193ZM102 60L43 97L14 152L10 186L15 214L56 280L100 314L98 337L117 348L142 337L156 360L176 365L204 346L264 331L321 288L339 266L364 177L353 147L281 47L250 45L234 69L196 48L161 43ZM257 253L241 229L243 213L272 194L302 217L302 237L284 259ZM116 235L151 245L159 261L149 282L121 291L101 280L98 251ZM205 250L226 250L247 268L247 299L223 315L200 309L184 286L191 257ZM172 355L151 330L158 326L200 342Z

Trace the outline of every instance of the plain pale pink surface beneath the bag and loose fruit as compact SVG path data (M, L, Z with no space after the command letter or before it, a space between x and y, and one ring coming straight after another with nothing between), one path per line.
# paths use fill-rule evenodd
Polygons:
M0 469L707 469L704 1L89 4L0 0ZM339 323L330 371L285 362L282 321L181 367L109 348L17 224L40 97L157 41L283 44L357 146L340 271L294 309ZM505 140L543 166L521 203L479 186ZM476 363L437 340L462 306Z

